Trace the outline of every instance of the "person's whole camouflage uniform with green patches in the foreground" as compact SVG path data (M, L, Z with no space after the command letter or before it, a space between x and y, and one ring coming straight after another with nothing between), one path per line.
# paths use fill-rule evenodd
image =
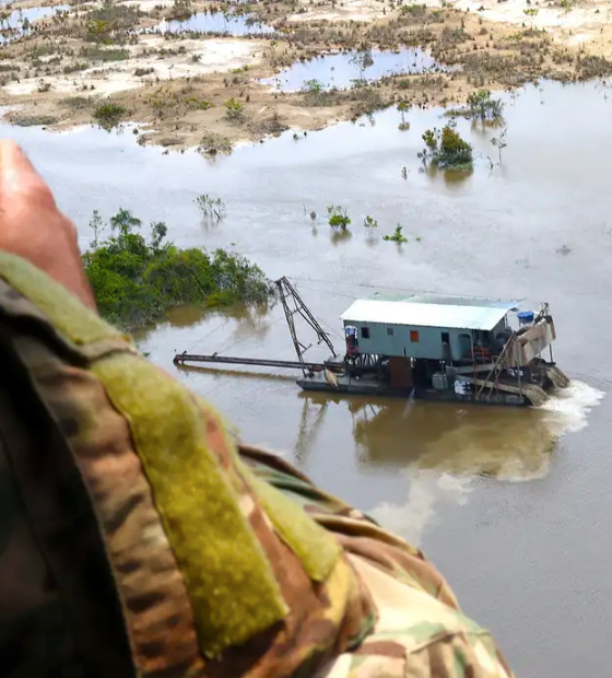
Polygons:
M0 358L2 676L511 676L421 552L5 253Z

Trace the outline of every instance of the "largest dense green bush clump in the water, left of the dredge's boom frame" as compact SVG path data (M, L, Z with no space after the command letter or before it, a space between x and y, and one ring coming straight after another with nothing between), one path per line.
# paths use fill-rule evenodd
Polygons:
M273 297L273 285L257 266L224 249L180 249L165 239L164 222L151 224L149 241L138 233L142 222L129 210L120 209L108 224L96 210L90 225L94 239L83 264L99 313L128 331L181 304L251 304Z

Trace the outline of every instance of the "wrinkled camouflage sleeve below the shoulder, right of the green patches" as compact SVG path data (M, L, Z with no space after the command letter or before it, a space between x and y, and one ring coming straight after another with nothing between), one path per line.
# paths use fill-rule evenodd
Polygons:
M420 550L281 457L245 444L239 451L254 472L339 539L376 604L373 632L316 678L511 678L494 639L461 613L446 580Z

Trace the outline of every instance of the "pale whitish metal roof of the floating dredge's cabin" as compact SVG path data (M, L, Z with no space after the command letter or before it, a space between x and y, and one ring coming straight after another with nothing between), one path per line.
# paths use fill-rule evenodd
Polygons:
M440 300L442 301L442 300ZM411 301L378 301L361 299L341 316L344 323L380 323L412 327L491 330L515 308L516 302L470 300L469 304L449 304ZM481 303L481 305L476 305Z

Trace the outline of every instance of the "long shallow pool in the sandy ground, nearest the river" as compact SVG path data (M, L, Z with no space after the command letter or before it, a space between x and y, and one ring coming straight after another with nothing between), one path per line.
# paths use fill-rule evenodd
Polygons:
M419 48L400 51L373 49L367 54L348 50L298 61L260 82L282 92L298 92L311 81L326 89L345 89L360 81L379 80L386 75L442 70L433 57Z

